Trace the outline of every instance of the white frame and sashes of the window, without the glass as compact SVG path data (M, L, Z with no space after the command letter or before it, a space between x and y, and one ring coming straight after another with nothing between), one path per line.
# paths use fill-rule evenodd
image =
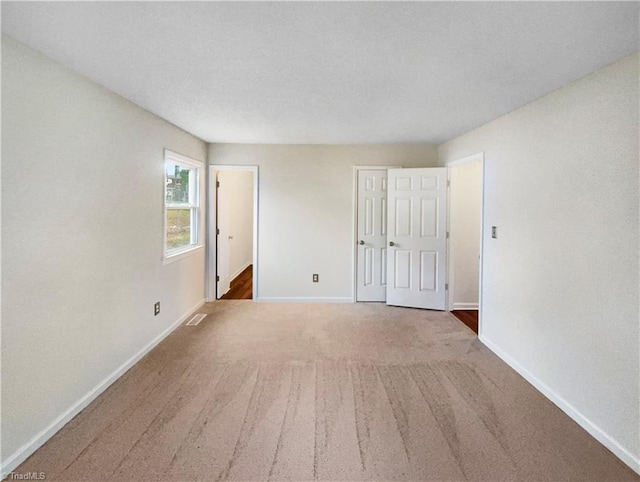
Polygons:
M177 164L186 169L189 169L192 174L189 178L189 203L167 203L167 162ZM192 179L191 176L195 177ZM204 163L192 159L177 152L164 150L164 163L163 163L163 186L162 186L162 212L163 212L163 231L162 231L162 246L163 246L163 264L171 263L185 257L186 255L202 249L203 243L203 216L202 216L202 189L201 184L204 180ZM190 209L191 210L191 243L186 246L180 246L179 248L168 249L167 248L167 212L170 209Z

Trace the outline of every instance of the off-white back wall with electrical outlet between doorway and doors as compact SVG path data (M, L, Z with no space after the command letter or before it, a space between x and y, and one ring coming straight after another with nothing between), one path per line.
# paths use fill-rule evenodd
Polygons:
M351 301L353 166L435 166L437 148L212 144L209 162L259 166L260 299Z

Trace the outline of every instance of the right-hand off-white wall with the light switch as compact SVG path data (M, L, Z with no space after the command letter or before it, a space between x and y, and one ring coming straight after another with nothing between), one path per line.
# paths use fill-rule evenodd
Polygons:
M439 149L485 153L482 339L636 471L638 62Z

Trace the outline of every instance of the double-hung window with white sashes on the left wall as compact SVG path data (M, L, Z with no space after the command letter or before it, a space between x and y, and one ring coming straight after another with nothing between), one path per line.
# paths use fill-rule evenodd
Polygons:
M199 228L202 170L201 162L165 150L165 259L201 246Z

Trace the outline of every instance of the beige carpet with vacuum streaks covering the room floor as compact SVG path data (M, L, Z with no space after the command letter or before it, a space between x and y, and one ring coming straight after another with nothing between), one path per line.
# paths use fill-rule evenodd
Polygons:
M453 316L220 301L15 472L47 480L639 480Z

